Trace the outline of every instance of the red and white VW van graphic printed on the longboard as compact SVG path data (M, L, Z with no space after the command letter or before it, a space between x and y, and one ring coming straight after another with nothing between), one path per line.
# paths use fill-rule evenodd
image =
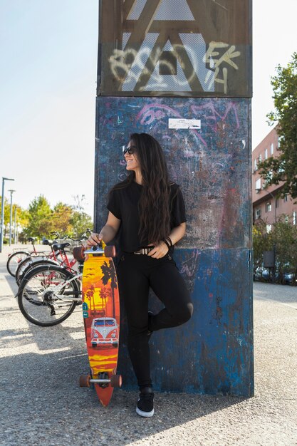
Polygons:
M92 347L118 347L119 329L115 318L95 318L92 321L90 338Z

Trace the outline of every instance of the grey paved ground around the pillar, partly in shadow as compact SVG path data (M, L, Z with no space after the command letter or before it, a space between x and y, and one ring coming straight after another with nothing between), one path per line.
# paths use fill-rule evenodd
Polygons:
M155 416L135 413L137 392L108 408L78 387L88 370L80 311L59 326L21 315L0 254L0 445L297 445L297 288L254 284L254 398L160 394Z

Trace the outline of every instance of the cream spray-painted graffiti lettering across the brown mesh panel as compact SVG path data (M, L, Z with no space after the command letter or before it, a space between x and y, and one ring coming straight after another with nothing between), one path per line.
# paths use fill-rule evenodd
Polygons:
M150 46L142 46L138 52L133 48L113 50L113 55L109 58L110 71L117 79L120 90L145 93L152 90L193 91L200 88L204 92L214 92L215 83L221 83L226 95L228 70L230 67L239 69L232 59L238 58L240 51L236 51L234 45L229 46L224 42L211 42L207 48L201 34L192 37L203 42L199 43L200 47L204 47L198 58L197 51L189 45L172 46L170 42L154 52ZM169 55L162 58L165 51L171 52L172 58ZM187 54L187 61L182 58L183 52Z

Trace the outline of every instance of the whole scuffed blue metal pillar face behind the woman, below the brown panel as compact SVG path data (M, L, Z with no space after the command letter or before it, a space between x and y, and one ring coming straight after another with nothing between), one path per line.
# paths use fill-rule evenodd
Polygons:
M123 145L133 132L160 141L186 202L187 236L175 256L194 316L152 336L156 389L253 394L250 113L250 100L239 98L97 98L95 227L105 224L108 190L125 178ZM192 119L197 128L180 128ZM123 317L120 371L129 388Z

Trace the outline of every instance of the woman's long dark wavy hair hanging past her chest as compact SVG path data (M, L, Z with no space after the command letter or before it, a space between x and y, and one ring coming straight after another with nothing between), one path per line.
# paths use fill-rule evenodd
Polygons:
M159 142L147 133L132 133L135 154L142 173L140 242L160 242L170 234L170 180L165 155ZM135 180L131 172L122 187ZM117 187L115 187L117 188Z

